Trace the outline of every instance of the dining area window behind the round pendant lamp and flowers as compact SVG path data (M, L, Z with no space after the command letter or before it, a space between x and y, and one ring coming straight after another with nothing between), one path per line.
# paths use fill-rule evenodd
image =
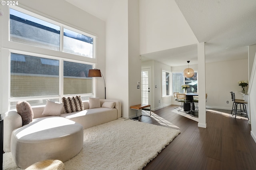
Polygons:
M189 85L187 89L188 93L197 92L197 72L194 72L194 76L191 78L185 78L183 72L172 73L172 91L178 93L184 93L182 85Z

